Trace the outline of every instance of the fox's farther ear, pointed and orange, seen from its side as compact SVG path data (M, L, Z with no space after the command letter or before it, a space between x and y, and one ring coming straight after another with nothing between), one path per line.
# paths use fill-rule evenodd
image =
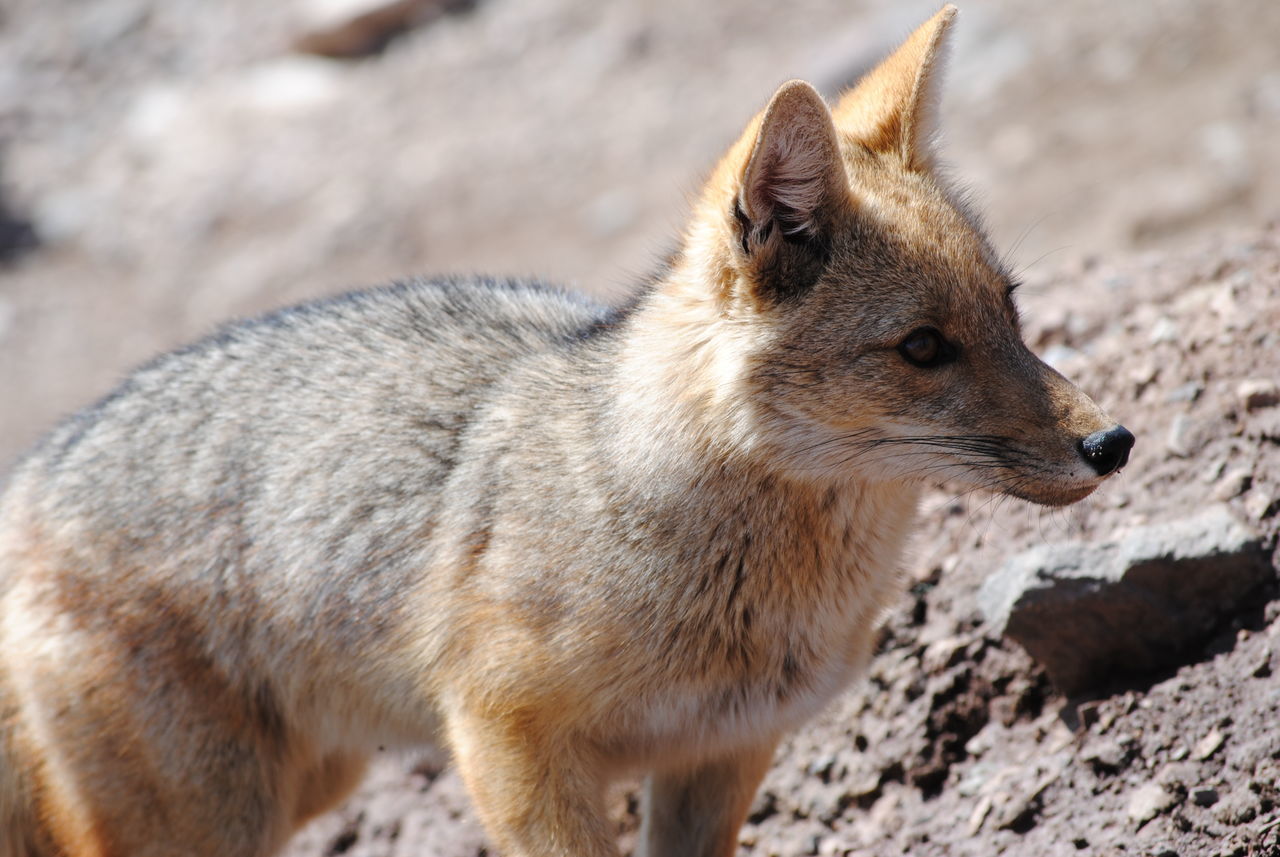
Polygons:
M896 153L908 169L928 171L947 31L956 8L947 4L858 82L836 105L836 125L873 152Z

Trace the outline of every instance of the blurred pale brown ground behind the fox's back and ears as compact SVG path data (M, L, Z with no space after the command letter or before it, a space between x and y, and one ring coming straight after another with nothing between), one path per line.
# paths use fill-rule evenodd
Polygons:
M228 317L420 272L616 298L778 83L835 96L937 5L4 0L0 469ZM1280 214L1280 3L960 13L943 156L1032 294Z

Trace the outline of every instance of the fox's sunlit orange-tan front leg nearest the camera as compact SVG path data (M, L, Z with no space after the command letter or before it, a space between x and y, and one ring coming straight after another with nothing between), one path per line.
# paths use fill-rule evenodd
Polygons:
M504 857L616 857L602 766L531 720L448 718L458 771L485 830Z

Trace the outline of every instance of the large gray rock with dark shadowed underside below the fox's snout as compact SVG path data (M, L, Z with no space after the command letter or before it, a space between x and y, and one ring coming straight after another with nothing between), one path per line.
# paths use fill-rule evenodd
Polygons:
M1217 504L1111 541L1033 547L983 583L978 604L1076 693L1181 663L1272 576L1260 535Z

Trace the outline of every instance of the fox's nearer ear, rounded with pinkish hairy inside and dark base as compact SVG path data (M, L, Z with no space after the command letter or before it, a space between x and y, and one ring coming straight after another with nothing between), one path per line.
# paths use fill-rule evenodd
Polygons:
M827 102L804 81L783 83L759 120L735 200L742 253L759 287L781 294L812 283L846 194Z

